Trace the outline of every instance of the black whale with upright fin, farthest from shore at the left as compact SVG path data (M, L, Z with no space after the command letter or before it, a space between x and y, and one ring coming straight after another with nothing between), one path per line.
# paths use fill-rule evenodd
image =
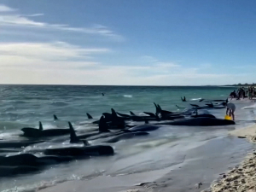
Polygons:
M24 137L55 137L70 134L69 129L49 129L44 130L42 123L39 121L39 129L24 127L21 129L24 132Z

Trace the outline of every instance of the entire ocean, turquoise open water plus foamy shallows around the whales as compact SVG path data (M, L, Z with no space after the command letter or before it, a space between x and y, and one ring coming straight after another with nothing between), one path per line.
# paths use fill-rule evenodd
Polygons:
M201 98L226 99L233 90L236 90L236 87L0 85L0 139L24 139L20 137L20 129L26 126L38 127L38 121L43 123L44 129L66 128L67 121L70 121L78 134L84 133L95 129L96 125L91 122L100 119L102 113L111 113L111 108L119 113L129 114L132 111L137 115L143 115L143 112L155 112L155 102L165 110L183 111L184 108L191 108L190 103L204 105L206 102L199 102ZM188 102L182 102L181 96L186 96ZM36 191L38 188L48 188L70 180L84 180L86 183L101 176L118 177L171 169L187 160L186 155L193 148L204 146L215 141L214 139L227 137L230 130L253 124L254 109L241 109L253 103L247 100L234 102L237 108L236 125L163 125L159 130L151 131L148 137L135 137L119 143L110 143L115 151L113 156L75 160L68 164L49 166L35 174L0 178L0 191ZM224 108L208 111L224 119ZM86 113L90 113L93 119L88 119ZM59 120L54 120L53 114ZM59 143L39 143L24 148L24 151L32 148L67 146L68 141L68 137L64 137ZM106 144L104 139L89 140L89 143ZM249 147L245 144L244 148ZM207 153L210 152L211 149Z

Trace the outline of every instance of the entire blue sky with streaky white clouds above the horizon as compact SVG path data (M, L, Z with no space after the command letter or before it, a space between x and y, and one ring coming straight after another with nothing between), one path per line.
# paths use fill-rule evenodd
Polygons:
M0 83L253 83L255 24L249 0L0 0Z

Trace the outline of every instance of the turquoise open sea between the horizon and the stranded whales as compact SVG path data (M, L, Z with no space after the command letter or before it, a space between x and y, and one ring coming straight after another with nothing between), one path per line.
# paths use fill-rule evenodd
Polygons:
M184 106L181 96L226 99L234 88L224 87L136 87L136 86L45 86L1 85L0 120L38 125L38 120L82 121L86 113L99 118L114 108L120 113L154 112L153 102L166 110ZM102 92L105 96L102 96ZM188 103L186 103L187 105Z

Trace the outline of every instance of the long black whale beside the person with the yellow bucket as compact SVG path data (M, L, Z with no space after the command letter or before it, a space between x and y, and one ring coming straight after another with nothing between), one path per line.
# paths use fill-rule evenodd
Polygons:
M218 126L218 125L235 125L235 121L226 119L216 119L216 118L191 118L191 119L181 119L174 120L170 122L163 122L154 125L185 125L185 126Z

